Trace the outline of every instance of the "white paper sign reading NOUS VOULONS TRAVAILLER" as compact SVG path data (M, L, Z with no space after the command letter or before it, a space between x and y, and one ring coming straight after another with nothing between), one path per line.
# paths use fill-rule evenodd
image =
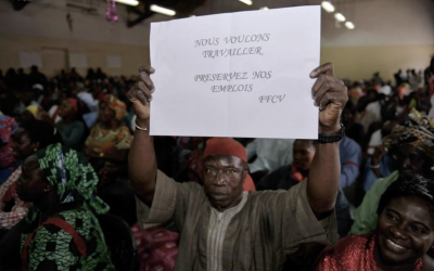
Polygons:
M151 134L318 138L319 5L151 25Z

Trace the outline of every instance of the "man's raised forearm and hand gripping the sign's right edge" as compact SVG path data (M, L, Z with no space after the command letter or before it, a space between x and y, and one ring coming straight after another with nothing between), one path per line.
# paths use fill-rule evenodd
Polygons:
M331 63L314 69L310 77L317 78L312 99L319 107L319 133L337 133L341 130L341 113L348 101L347 89L342 80L334 78ZM309 206L318 219L327 217L334 208L340 175L339 143L318 144L306 191Z

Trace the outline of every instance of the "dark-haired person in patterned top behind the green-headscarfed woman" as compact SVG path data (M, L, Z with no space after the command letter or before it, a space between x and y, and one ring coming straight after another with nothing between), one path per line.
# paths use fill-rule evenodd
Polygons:
M12 136L13 155L17 160L25 160L38 150L62 142L55 129L41 120L30 120L20 127ZM16 194L16 181L21 178L22 167L17 167L9 179L0 185L0 236L24 218L29 203L23 202Z

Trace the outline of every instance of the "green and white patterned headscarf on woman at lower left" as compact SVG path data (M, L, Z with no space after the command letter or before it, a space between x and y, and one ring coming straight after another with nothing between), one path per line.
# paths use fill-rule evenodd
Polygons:
M81 153L58 143L38 151L36 155L61 204L82 201L95 214L108 211L108 205L97 196L97 173ZM30 217L28 219L33 220Z

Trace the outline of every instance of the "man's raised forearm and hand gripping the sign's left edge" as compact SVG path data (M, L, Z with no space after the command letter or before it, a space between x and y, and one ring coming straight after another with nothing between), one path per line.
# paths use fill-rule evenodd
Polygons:
M137 115L135 139L128 155L128 170L130 185L136 194L149 206L151 206L156 182L156 159L152 137L149 134L150 102L154 92L154 85L150 74L154 73L152 67L140 67L140 80L128 92L128 99L132 103L132 109Z

